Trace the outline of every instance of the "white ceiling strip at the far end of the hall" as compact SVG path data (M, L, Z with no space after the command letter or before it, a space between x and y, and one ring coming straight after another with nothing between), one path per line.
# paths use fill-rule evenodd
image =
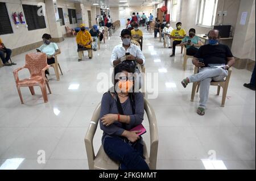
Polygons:
M163 0L127 0L126 2L120 2L122 0L68 0L69 2L82 2L85 4L90 3L92 6L93 4L97 7L129 7L129 6L147 6L147 5L154 5L158 4L160 2L163 2ZM125 1L125 0L124 0ZM155 2L155 3L152 3Z

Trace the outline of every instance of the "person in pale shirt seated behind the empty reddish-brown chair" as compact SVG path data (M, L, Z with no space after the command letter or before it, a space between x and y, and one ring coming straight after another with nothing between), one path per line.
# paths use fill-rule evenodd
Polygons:
M51 35L44 33L42 36L43 45L41 45L38 49L38 52L45 53L47 55L47 64L51 65L55 63L56 54L60 54L60 49L56 43L51 42ZM49 74L49 71L46 70L46 74Z

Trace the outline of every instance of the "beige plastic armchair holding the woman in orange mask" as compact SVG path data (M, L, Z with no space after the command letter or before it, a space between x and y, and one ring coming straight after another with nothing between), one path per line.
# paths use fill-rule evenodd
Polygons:
M151 170L156 169L156 158L158 155L158 127L156 116L153 108L148 101L144 99L144 110L147 113L149 125L150 125L150 154L148 157L146 144L144 144L144 157ZM100 119L101 104L98 104L96 110L93 112L92 119L88 131L86 132L84 141L88 158L88 165L90 170L117 170L119 163L113 161L105 153L102 145L98 150L97 155L94 153L93 137L97 129L98 120Z

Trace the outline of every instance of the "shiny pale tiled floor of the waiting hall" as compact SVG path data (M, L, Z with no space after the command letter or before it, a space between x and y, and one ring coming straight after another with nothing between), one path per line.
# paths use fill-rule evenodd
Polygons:
M184 89L180 84L193 73L191 61L183 71L180 48L176 57L170 58L171 49L164 49L159 39L143 31L146 72L158 73L154 84L158 96L148 99L158 119L158 169L207 169L202 160L213 156L227 169L255 169L255 91L242 86L249 82L251 72L233 68L225 107L220 107L217 88L210 87L207 111L199 116L199 96L190 102L192 85ZM0 69L0 169L88 169L84 136L103 94L97 91L102 81L100 73L108 75L106 82L112 72L109 60L113 47L121 43L119 33L102 43L101 49L93 52L92 60L85 56L81 62L77 61L74 37L59 43L64 75L56 81L50 70L52 94L48 95L48 103L43 103L37 87L34 96L23 88L24 104L20 104L13 70L24 65L28 52L13 57L18 65ZM28 71L20 71L19 76L27 77ZM79 84L79 89L69 90L72 84ZM96 150L101 135L97 129ZM144 140L149 142L148 133ZM42 150L46 161L38 163Z

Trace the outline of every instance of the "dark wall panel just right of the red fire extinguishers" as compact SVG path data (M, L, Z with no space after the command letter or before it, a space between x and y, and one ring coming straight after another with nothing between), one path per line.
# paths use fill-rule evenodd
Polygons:
M46 28L46 20L44 20L44 15L38 14L38 11L42 9L42 6L38 7L34 5L22 5L22 7L28 26L28 31Z

